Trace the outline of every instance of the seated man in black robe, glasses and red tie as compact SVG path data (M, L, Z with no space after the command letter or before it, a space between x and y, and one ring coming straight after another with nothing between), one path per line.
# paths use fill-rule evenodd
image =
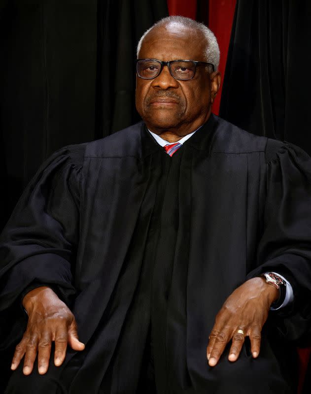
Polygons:
M218 61L206 27L161 20L138 44L143 123L31 182L2 234L0 305L28 314L7 393L295 393L311 163L211 114Z

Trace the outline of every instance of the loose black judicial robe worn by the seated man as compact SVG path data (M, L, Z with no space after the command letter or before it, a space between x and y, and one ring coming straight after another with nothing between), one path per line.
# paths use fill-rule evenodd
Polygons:
M148 332L158 393L214 393L215 315L267 270L295 294L263 330L260 358L284 374L310 332L309 156L211 115L171 158L138 123L59 150L21 197L1 235L5 341L22 334L24 289L48 284L86 343L58 368L69 393L136 393Z

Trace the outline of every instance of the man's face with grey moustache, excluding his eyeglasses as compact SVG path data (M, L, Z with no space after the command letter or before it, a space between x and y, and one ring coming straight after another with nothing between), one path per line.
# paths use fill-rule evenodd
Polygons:
M206 62L204 44L202 33L171 23L147 34L139 59ZM148 129L157 134L171 131L182 136L205 123L214 91L218 90L213 75L219 84L219 73L210 75L203 65L197 66L194 78L189 81L174 79L167 66L154 79L137 77L136 107Z

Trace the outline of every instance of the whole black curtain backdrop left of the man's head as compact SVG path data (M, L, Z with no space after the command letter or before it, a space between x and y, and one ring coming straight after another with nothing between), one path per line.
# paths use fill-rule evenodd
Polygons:
M0 228L43 160L138 121L136 45L166 0L0 0Z

